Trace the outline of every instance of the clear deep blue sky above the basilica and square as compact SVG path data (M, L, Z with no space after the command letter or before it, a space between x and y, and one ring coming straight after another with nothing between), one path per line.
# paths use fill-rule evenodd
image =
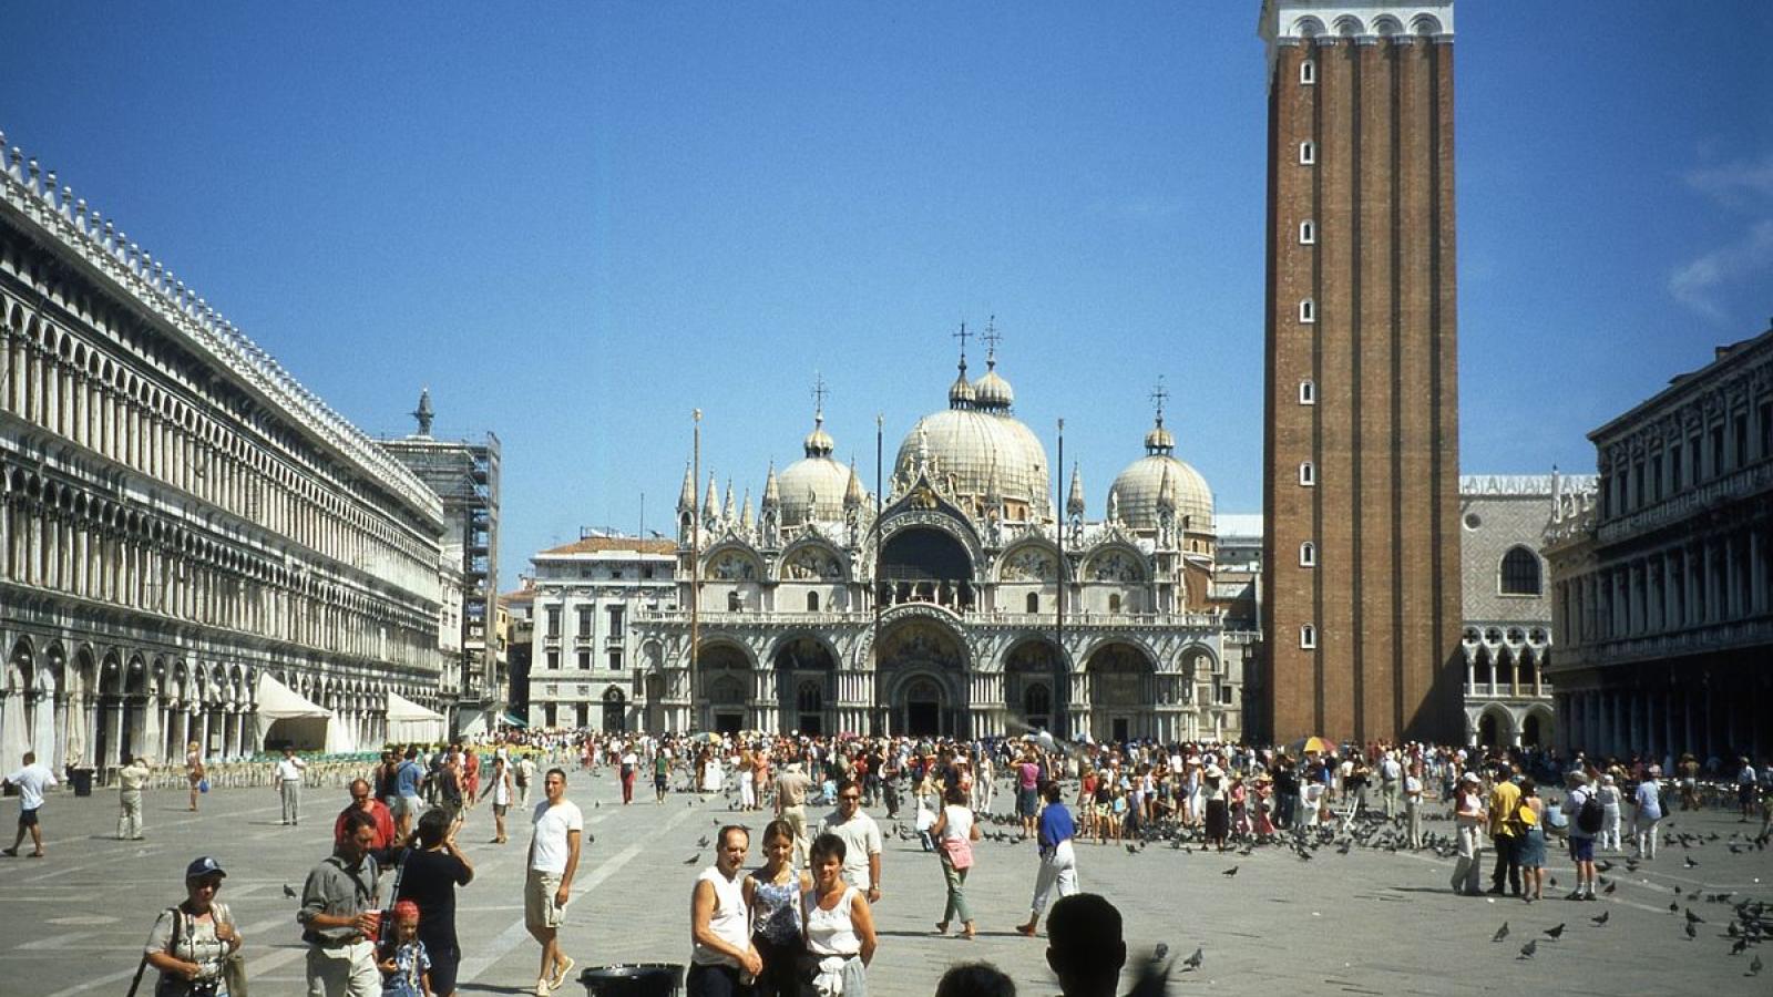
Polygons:
M55 4L0 128L371 433L505 447L505 587L582 525L759 490L814 373L872 479L949 334L1090 513L1163 374L1261 507L1264 51L1213 4ZM1585 433L1773 316L1773 4L1457 7L1461 458ZM973 373L979 373L973 353ZM872 481L871 481L872 483Z

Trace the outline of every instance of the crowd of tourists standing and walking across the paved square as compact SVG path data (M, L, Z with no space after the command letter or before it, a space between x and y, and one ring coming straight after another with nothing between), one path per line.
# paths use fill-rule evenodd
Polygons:
M7 855L27 834L37 843L34 855L43 855L37 811L55 777L34 758L25 761L7 777L23 802L20 836ZM186 759L193 809L200 765L200 758ZM723 797L739 814L718 830L715 862L690 883L686 988L691 995L755 997L865 997L867 965L879 946L874 905L888 873L895 885L904 883L904 896L929 898L933 933L972 938L979 926L966 882L975 843L986 837L1035 839L1030 901L1016 930L1034 937L1046 921L1048 958L1064 983L1064 924L1080 930L1060 917L1067 898L1096 915L1113 910L1082 892L1080 853L1090 844L1298 848L1379 827L1395 848L1434 848L1456 859L1456 892L1537 901L1544 898L1546 852L1560 841L1578 869L1567 899L1594 899L1597 853L1629 850L1629 860L1652 862L1660 823L1674 809L1716 805L1720 793L1730 793L1739 820L1759 821L1757 834L1768 836L1773 789L1773 773L1748 758L1734 765L1693 756L1566 759L1530 749L1332 745L1316 738L1257 749L1066 743L1044 733L954 742L511 731L450 745L390 745L351 782L346 807L330 814L333 850L296 894L309 992L456 992L461 946L454 892L475 876L456 837L468 811L488 798L493 844L509 841L512 807L530 825L523 910L539 947L534 992L548 997L567 986L576 963L558 933L589 844L583 813L567 798L571 777L617 781L622 805L663 805L674 793L695 793ZM284 752L268 781L282 802L282 821L298 825L301 758ZM637 782L651 793L637 797ZM532 788L541 797L534 807ZM119 793L119 837L140 837L138 786L126 781ZM883 811L890 830L869 809ZM754 841L741 821L759 823L743 816L755 811L766 818ZM1431 813L1452 818L1454 836L1425 834ZM934 853L940 917L936 880L883 869L888 836ZM1488 889L1486 848L1493 855ZM191 862L186 896L156 921L138 981L152 969L161 981L156 993L243 997L245 942L227 905L216 901L225 876L215 857ZM1094 963L1113 954L1112 944L1090 951L1096 956L1085 958L1087 967L1080 963L1074 981L1099 977ZM938 990L1012 992L1007 977L986 965L957 967Z

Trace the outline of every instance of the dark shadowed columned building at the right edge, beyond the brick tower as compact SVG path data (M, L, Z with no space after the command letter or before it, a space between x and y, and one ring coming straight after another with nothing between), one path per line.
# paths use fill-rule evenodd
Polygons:
M1589 433L1546 532L1567 749L1773 750L1773 328Z

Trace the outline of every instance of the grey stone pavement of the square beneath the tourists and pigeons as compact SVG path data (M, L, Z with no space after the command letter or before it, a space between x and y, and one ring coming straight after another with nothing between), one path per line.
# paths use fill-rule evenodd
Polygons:
M725 798L672 795L665 805L619 805L615 779L574 772L569 797L585 809L596 843L585 853L566 949L580 967L613 962L686 962L688 896L695 873L711 862L697 839L718 823L761 827L761 814L734 814ZM1002 800L1002 797L1000 797ZM183 795L151 791L147 839L115 841L115 793L90 798L51 795L44 813L43 860L0 859L0 993L122 993L154 914L181 899L186 862L216 855L229 869L222 899L234 905L248 942L254 992L261 997L303 992L303 946L294 922L296 889L328 848L344 789L309 788L300 827L278 827L277 797L262 789L218 789L204 811L184 811ZM16 802L7 800L5 827ZM871 811L878 820L879 809ZM890 832L890 823L883 828ZM1429 830L1447 832L1447 821ZM1179 974L1172 993L1489 993L1519 985L1562 993L1766 993L1768 979L1748 977L1750 960L1773 946L1730 956L1725 926L1730 908L1686 894L1730 892L1773 899L1773 857L1732 855L1730 836L1752 830L1723 811L1675 814L1674 832L1706 837L1679 844L1601 903L1454 898L1450 862L1429 853L1323 848L1310 862L1275 848L1254 855L1206 855L1152 844L1138 855L1119 846L1085 844L1085 889L1108 896L1126 917L1135 958L1154 944L1175 956L1204 949L1199 972ZM1718 839L1709 837L1716 834ZM457 891L457 933L465 962L461 993L519 993L534 985L537 949L523 930L521 860L527 830L511 844L488 844L491 814L472 813L461 844L475 864L473 883ZM688 862L699 857L697 862ZM1697 860L1684 867L1683 857ZM754 859L757 852L754 848ZM1615 860L1619 857L1613 857ZM915 841L890 839L883 864L885 898L878 905L879 953L869 970L874 993L927 995L954 962L989 960L1009 972L1021 993L1055 993L1044 942L1012 926L1027 917L1034 880L1028 844L984 843L968 883L979 919L977 942L938 938L941 875ZM1222 873L1236 866L1232 878ZM1613 873L1624 873L1621 864ZM1553 855L1550 875L1564 889L1567 862ZM1608 875L1608 878L1613 878ZM1677 896L1674 887L1683 892ZM1548 896L1553 891L1548 887ZM1706 919L1697 940L1670 903ZM1606 926L1590 919L1610 912ZM1511 937L1493 944L1507 921ZM1557 942L1543 930L1566 922ZM1518 958L1527 938L1541 938L1534 960ZM152 974L145 986L152 985ZM144 990L147 992L147 990ZM560 993L582 990L574 985Z

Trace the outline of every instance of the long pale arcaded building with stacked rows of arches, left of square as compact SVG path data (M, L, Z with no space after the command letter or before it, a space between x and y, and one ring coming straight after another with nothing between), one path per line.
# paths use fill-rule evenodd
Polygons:
M4 147L4 135L0 135ZM434 704L441 504L11 149L0 169L0 770L255 745L269 676L379 743Z

